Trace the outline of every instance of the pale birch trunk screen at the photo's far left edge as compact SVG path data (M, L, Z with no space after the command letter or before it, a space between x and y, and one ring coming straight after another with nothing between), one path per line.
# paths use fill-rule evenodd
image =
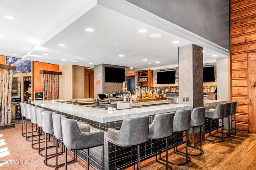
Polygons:
M3 75L2 75L3 69ZM12 78L16 66L0 64L0 125L10 125L12 121ZM9 74L10 72L10 74Z

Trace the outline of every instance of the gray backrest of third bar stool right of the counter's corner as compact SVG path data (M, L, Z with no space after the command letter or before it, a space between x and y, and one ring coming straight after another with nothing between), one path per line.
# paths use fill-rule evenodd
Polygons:
M190 129L191 112L191 109L176 111L172 129L174 132L184 132Z

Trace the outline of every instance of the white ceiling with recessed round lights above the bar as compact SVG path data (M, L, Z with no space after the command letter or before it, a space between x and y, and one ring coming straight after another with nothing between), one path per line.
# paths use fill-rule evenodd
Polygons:
M10 8L7 0L0 2L0 18L2 16L0 22L3 21L4 25L8 25L3 29L0 27L0 34L8 34L7 38L0 37L0 47L2 47L0 55L17 57L13 54L18 54L18 57L24 56L26 60L88 67L102 63L114 63L134 69L164 68L177 66L178 47L193 43L96 4L92 4L90 10L88 10L89 8L84 10L88 12L79 13L68 23L68 16L72 16L72 14L74 16L81 6L86 6L87 2L85 3L83 0L74 2L46 1L43 4L26 0L26 3ZM55 5L55 7L48 9L45 4ZM59 7L59 4L62 4L62 7ZM19 8L24 8L24 10L20 11ZM47 12L44 11L45 9ZM56 12L56 9L61 10ZM3 17L4 15L11 15L16 19L7 20ZM65 22L66 26L62 24ZM56 27L59 28L59 31L56 31ZM84 29L88 27L95 31L85 31ZM55 34L49 36L53 29ZM148 31L139 33L139 29ZM151 33L161 33L163 36L150 38ZM42 41L39 43L40 39ZM173 44L172 41L180 41L180 43ZM118 45L114 45L115 43ZM66 47L60 47L58 44L65 44ZM226 57L226 55L206 47L204 50L206 53L218 55L217 57ZM44 56L43 53L49 55ZM118 57L118 55L124 55L124 57ZM61 61L61 59L66 59L66 61ZM147 59L147 61L142 61L142 59ZM156 63L156 61L160 63ZM216 57L204 55L204 63L212 61L216 61Z

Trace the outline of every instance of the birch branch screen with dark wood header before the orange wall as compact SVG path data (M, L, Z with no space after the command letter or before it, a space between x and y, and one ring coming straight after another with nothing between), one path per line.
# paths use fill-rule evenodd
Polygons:
M44 92L44 100L59 99L59 81L62 72L40 70L42 74L42 92Z

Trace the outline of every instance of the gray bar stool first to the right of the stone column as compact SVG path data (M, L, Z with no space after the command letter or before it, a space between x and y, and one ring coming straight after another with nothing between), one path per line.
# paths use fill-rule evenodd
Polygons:
M224 133L223 133L223 122L224 122L224 111L225 111L225 104L218 104L216 108L213 111L206 110L205 112L205 118L209 119L210 122L210 137L216 137L222 139L221 141L214 141L210 139L205 139L206 141L212 141L212 142L223 142L224 141ZM211 120L212 119L222 119L222 137L212 135L212 128L211 128ZM217 129L218 129L218 123L217 123Z

